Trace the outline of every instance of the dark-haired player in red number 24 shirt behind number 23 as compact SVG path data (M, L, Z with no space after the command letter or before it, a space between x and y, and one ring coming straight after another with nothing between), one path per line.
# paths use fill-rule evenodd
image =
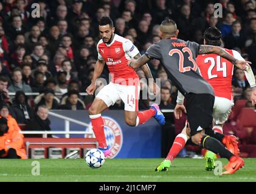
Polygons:
M216 27L210 27L204 32L204 44L220 46L221 32ZM235 50L224 49L235 59L244 61L243 57ZM213 130L218 133L223 133L224 122L227 121L233 102L232 96L232 76L234 72L234 65L227 59L222 58L216 54L198 55L196 58L196 64L200 69L201 75L206 81L212 85L215 93L215 102L213 105ZM251 68L244 71L247 81L252 88L252 104L256 102L256 84L254 73ZM234 142L236 139L234 138ZM234 155L239 154L237 147L228 145L227 149ZM215 154L207 151L206 158L206 170L214 169Z

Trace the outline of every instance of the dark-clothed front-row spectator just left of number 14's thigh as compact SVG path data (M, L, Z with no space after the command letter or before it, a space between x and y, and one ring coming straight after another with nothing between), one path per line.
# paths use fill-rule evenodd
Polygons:
M67 92L67 98L64 98L62 104L58 107L61 110L85 110L85 104L78 101L79 93L77 90Z

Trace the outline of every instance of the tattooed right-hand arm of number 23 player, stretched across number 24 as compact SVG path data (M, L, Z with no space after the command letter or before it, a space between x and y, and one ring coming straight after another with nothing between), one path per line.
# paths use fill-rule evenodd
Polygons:
M235 59L234 56L230 55L226 50L221 47L216 47L212 45L200 45L199 54L207 54L207 53L215 53L217 55L222 56L223 58L229 60L234 65L237 66L238 69L246 70L248 65L251 64L249 61L239 61Z

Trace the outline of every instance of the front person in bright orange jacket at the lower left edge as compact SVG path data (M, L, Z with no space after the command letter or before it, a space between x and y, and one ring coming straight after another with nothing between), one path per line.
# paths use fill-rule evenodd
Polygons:
M0 158L27 159L24 136L8 125L7 119L0 118Z

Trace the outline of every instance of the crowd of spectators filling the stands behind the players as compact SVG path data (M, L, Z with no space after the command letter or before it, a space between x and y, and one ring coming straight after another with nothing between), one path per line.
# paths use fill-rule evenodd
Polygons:
M34 2L40 5L40 18L32 17ZM215 17L215 3L222 5L222 17ZM161 39L159 24L166 17L177 22L179 38L199 44L203 44L204 30L218 27L223 46L237 50L251 61L256 73L254 0L4 0L0 2L0 101L9 105L10 115L19 124L35 121L37 107L41 105L49 110L89 109L94 96L80 94L91 84L100 39L99 20L103 16L110 16L116 33L130 39L141 54ZM154 59L148 65L154 79L161 78L161 109L173 109L177 96L175 85L168 79L161 62ZM101 78L108 81L108 73L105 65ZM137 70L137 74L145 78L142 70ZM97 87L102 84L97 82ZM141 90L147 87L144 81L140 84ZM243 101L244 107L255 109L250 103L251 89L243 71L234 70L232 86L235 104ZM25 94L30 92L40 95ZM148 105L149 100L140 100L139 109L147 109ZM123 109L122 101L111 109ZM168 131L174 121L171 116L165 117ZM256 146L256 123L247 129L248 126L237 124L238 117L230 116L224 133L251 138L244 142ZM175 125L178 134L184 119ZM241 127L244 134L239 136ZM249 156L256 157L256 153L250 153Z

